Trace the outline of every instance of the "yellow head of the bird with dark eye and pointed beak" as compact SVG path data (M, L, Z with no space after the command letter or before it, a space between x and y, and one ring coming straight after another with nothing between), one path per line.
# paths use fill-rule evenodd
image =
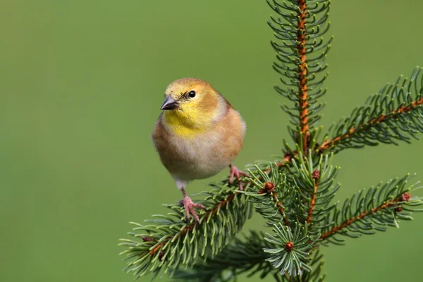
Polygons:
M171 82L161 105L166 123L189 128L210 125L224 111L225 100L208 82L181 78Z

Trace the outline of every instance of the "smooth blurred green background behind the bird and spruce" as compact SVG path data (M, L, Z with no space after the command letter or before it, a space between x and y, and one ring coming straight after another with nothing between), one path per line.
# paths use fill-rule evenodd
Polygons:
M421 11L423 1L333 1L326 128L423 64ZM0 281L132 281L118 238L180 199L149 139L172 80L208 80L240 111L236 165L279 154L288 119L272 90L270 13L264 0L0 0ZM338 199L407 172L423 179L422 146L336 155ZM415 219L324 248L327 281L419 280Z

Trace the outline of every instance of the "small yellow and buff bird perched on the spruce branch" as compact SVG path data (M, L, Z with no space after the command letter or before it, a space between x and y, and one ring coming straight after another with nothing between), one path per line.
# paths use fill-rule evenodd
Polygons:
M191 180L208 178L230 168L229 183L248 176L232 165L243 147L245 122L238 111L212 85L197 78L182 78L171 82L165 91L164 110L152 133L161 162L176 181L183 194L183 206L196 221L199 217L185 192Z

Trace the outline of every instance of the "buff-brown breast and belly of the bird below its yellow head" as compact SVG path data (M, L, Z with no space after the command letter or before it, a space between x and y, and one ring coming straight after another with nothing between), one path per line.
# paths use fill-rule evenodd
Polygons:
M244 130L239 117L206 132L176 134L159 119L152 140L173 178L195 180L214 176L231 164L243 146Z

